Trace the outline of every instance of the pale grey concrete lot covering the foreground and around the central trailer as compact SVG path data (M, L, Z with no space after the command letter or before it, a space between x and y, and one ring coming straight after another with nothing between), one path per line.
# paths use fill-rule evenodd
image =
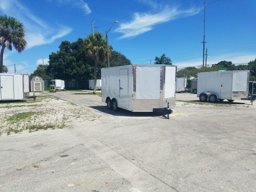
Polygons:
M177 102L168 120L109 111L98 96L52 95L97 119L1 136L0 191L256 191L256 103Z

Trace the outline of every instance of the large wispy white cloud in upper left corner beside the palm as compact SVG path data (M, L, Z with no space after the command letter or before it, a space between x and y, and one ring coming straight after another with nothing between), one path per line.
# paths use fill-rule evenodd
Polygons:
M61 29L48 27L49 24L36 17L26 6L20 4L17 0L1 1L0 10L4 14L19 19L24 24L27 49L52 43L54 40L72 31L65 26L56 26Z

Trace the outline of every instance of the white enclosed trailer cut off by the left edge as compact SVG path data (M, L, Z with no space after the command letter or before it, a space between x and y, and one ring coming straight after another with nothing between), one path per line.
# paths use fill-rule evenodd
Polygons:
M0 100L18 100L29 96L29 75L0 73Z

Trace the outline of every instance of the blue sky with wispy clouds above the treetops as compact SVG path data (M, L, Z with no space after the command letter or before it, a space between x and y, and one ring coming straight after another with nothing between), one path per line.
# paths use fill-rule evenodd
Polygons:
M256 57L256 1L206 0L207 64L247 63ZM20 20L28 47L5 50L9 73L32 73L61 41L105 31L109 44L133 64L165 53L178 68L202 64L203 0L0 0L0 14Z

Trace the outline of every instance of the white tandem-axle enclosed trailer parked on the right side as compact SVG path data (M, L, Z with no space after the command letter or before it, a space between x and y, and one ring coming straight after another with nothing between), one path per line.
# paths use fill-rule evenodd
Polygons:
M197 97L204 102L247 97L249 71L214 71L198 73Z

